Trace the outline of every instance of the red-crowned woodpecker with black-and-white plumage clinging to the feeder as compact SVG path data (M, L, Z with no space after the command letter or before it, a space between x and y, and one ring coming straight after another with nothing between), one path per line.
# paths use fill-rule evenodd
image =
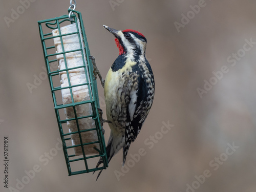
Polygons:
M124 165L129 147L150 112L155 81L150 63L145 57L145 36L135 30L119 31L105 25L103 27L116 37L115 42L119 49L119 56L111 66L105 81L96 68L95 60L91 59L95 66L94 72L99 75L104 87L106 116L111 129L106 146L108 162L122 148ZM100 159L96 167L102 162ZM102 169L99 175L101 172Z

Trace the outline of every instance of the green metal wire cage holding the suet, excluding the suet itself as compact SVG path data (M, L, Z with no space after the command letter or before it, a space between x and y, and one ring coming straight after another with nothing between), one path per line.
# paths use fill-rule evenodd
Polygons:
M47 69L48 78L50 82L54 109L56 113L59 133L62 140L63 152L65 155L69 176L94 172L95 170L105 169L106 167L108 167L105 141L104 141L104 136L102 134L102 127L100 125L99 112L98 112L99 99L98 99L98 91L97 91L97 82L93 77L93 66L92 66L91 60L89 59L90 50L88 47L86 32L84 30L81 13L78 11L69 9L69 12L70 11L72 11L71 12L72 14L70 15L71 20L69 19L69 15L62 15L60 17L38 21L42 49L44 51L46 69ZM76 29L77 29L76 32L61 34L60 28L62 26L67 26L70 24L76 25ZM78 26L79 24L80 26ZM59 31L59 35L53 36L52 31L56 29ZM82 35L79 35L79 30L81 31ZM77 34L77 36L79 37L80 49L65 51L65 48L63 46L63 38L64 36L73 35L73 34ZM56 53L55 46L53 44L53 40L54 40L53 38L57 38L57 37L60 38L60 42L61 42L62 52L60 53ZM82 54L83 65L75 68L68 68L66 55L68 53L77 52L77 51L80 51L80 53ZM56 59L57 55L63 55L66 69L58 69L58 61ZM84 69L85 71L87 81L86 83L76 84L72 86L70 82L71 70L76 70L81 68ZM61 72L67 73L67 78L69 83L67 87L60 86ZM72 91L75 87L78 87L78 86L88 86L89 95L90 95L89 100L75 102ZM71 93L71 100L72 100L71 103L65 104L61 101L61 90L63 89L69 89ZM76 110L78 107L82 107L83 105L84 106L90 105L90 108L92 109L93 114L89 114L86 116L78 116ZM67 117L64 115L65 110L72 110L74 117L67 119ZM93 129L86 129L86 130L80 129L80 126L81 126L80 121L81 119L84 120L85 118L91 118L93 120L94 126L95 126L93 127ZM74 122L73 124L77 125L76 131L72 132L68 129L69 122ZM82 134L87 134L89 132L96 132L97 140L92 142L84 142L82 139ZM72 135L77 136L77 138L79 138L78 139L79 144L73 143ZM97 148L94 147L94 149L97 151L98 154L87 155L85 153L86 147L93 144L97 144L97 146L99 146ZM75 154L75 149L77 148L79 148L79 150L81 151L80 155ZM99 157L102 157L103 164L101 167L95 168L95 165L96 165L95 162L97 162L95 161L95 158L97 158L98 160Z

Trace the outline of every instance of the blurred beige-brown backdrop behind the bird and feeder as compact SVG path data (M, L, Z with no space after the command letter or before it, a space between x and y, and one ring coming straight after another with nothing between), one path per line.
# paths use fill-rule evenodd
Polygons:
M140 148L145 155L116 177L118 153L97 182L92 173L69 177L62 151L47 165L39 160L60 136L48 79L32 93L27 87L45 66L37 20L67 14L69 1L34 1L9 26L5 18L12 18L12 9L23 12L22 4L1 4L0 191L256 190L256 1L77 0L101 74L105 77L118 56L114 37L102 27L108 25L146 36L156 81L153 107L127 160ZM177 30L175 22L182 27ZM207 87L206 81L214 85ZM101 107L104 111L104 102ZM164 123L172 129L166 131ZM110 130L104 128L108 141ZM9 137L9 187L40 167L21 190L4 188L4 136Z

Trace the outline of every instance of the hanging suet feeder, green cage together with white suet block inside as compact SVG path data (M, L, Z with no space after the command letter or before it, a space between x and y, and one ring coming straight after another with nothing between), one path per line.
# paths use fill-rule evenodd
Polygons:
M81 13L38 21L69 176L108 167L97 83ZM95 168L95 158L103 165Z

